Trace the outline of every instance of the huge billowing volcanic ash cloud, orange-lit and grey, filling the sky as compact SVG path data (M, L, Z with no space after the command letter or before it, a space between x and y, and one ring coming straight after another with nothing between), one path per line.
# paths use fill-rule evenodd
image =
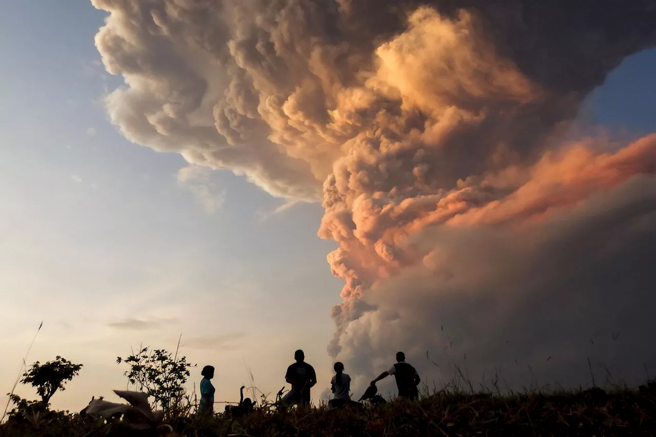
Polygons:
M323 201L346 284L329 352L358 375L401 348L436 375L447 350L473 373L517 359L565 383L586 354L656 365L640 346L656 136L562 140L656 43L653 1L92 3L110 12L96 46L125 78L107 107L127 138Z

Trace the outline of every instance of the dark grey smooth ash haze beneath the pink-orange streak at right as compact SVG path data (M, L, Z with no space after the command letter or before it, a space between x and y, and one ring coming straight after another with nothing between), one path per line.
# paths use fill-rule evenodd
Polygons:
M384 369L372 362L394 362L397 350L438 385L456 366L476 388L491 388L495 373L502 390L591 385L588 359L598 385L656 374L655 177L632 178L523 232L422 238L439 241L449 262L365 297L377 311L352 323L344 344L352 371L365 375L358 388Z

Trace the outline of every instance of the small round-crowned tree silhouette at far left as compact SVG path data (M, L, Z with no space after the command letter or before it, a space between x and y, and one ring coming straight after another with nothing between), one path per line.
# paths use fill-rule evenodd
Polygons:
M41 364L38 361L32 364L29 371L23 373L23 384L30 384L37 389L37 394L41 396L41 402L44 406L50 403L52 395L57 390L66 390L64 384L71 381L74 376L79 374L81 364L72 362L57 356L54 361Z

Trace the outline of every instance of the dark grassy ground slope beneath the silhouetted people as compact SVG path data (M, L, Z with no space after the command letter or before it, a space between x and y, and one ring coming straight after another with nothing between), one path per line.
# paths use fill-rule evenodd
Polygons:
M440 391L378 407L260 409L235 420L216 415L168 423L174 432L136 432L120 421L45 413L0 425L0 436L645 436L656 430L656 396L646 388L510 396Z

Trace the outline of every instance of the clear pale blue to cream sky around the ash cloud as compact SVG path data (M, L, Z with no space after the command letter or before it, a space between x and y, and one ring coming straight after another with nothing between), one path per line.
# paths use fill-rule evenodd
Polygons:
M316 236L321 206L268 217L284 199L221 171L207 193L220 206L207 211L176 178L182 157L131 144L108 121L102 96L121 79L94 47L104 13L57 3L12 0L0 15L3 390L41 320L28 362L85 364L56 407L122 386L117 355L141 341L174 348L180 333L190 361L217 366L218 398L247 382L244 360L256 385L277 390L297 347L327 381L342 283L325 260L335 243ZM625 60L588 99L586 123L654 131L654 71L656 51Z

